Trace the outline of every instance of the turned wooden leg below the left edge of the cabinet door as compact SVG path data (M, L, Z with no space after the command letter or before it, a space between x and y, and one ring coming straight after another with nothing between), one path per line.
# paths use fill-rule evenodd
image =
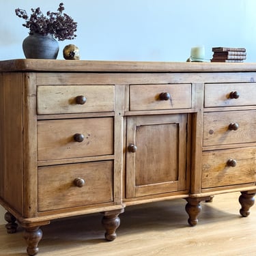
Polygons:
M124 208L120 210L113 210L108 212L103 212L104 216L102 218L102 225L106 230L105 238L108 241L113 241L117 237L115 233L116 229L120 225L119 214L124 212Z

